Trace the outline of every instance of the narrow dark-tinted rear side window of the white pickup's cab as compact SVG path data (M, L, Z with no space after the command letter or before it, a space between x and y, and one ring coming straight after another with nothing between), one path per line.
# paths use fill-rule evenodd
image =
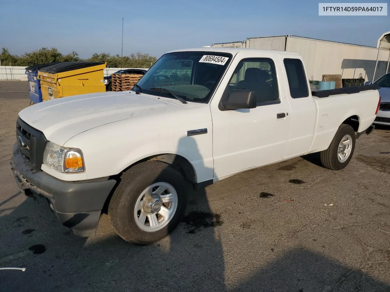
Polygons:
M305 70L299 59L285 58L283 60L289 82L290 95L293 99L309 96Z

